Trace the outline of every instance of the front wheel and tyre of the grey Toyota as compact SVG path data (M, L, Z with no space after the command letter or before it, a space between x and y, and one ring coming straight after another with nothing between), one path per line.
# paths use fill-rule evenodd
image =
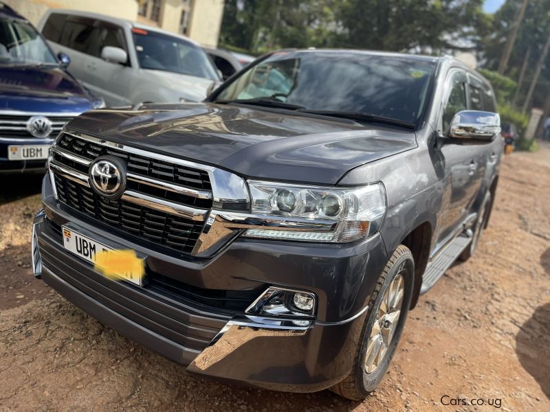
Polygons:
M414 273L415 262L412 258L412 253L410 253L407 247L400 244L397 249L395 249L395 252L393 252L390 260L386 263L380 277L378 277L373 293L371 294L371 299L369 299L369 310L367 311L365 323L362 328L358 350L355 352L351 372L344 380L331 387L331 391L347 399L362 400L380 384L390 365L391 358L393 357L395 348L401 337L401 332L403 331L408 308L410 307L410 299L412 297ZM369 346L369 341L380 342L382 334L379 336L376 330L380 330L380 333L386 334L388 333L387 331L390 330L385 326L380 328L380 325L387 325L388 322L387 320L380 321L380 314L384 313L384 298L392 296L392 290L399 288L399 277L401 277L403 284L401 310L397 315L397 320L396 323L394 322L393 328L391 328L390 323L390 328L393 330L393 337L389 339L389 345L386 346L387 349L385 353L380 357L374 357L374 359L377 358L379 361L375 362L377 366L375 366L375 369L372 369L374 366L371 362L373 361L372 354L375 353L375 349L373 348L376 346L375 343L371 343L371 346ZM390 289L391 285L393 289ZM393 317L389 317L388 319L395 318L395 310L390 310L383 315L384 317L382 319L386 319L385 317L392 313ZM386 338L387 336L388 335L386 335ZM368 348L371 349L371 356L369 356L369 365L366 365ZM370 368L369 372L367 372L368 367Z

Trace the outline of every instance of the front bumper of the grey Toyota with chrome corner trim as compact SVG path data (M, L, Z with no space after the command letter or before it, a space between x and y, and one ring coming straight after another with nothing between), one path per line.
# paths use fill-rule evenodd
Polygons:
M34 222L42 278L69 301L188 371L283 391L318 391L349 374L366 302L386 263L380 236L360 244L323 245L237 238L211 259L177 258L100 229L59 205L49 180L45 214ZM133 249L148 270L210 290L266 286L318 297L307 325L271 324L243 311L213 308L147 286L113 282L63 248L54 227L69 225L114 248Z

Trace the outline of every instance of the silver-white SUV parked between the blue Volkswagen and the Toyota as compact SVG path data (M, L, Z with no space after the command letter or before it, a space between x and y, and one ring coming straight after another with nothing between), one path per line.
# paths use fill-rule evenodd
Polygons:
M48 10L39 30L71 73L108 106L198 102L221 78L190 39L156 27L76 10Z

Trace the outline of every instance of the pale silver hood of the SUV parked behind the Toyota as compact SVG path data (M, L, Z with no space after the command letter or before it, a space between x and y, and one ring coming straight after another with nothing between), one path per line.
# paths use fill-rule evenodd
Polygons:
M214 84L214 80L173 73L172 71L142 70L146 72L149 80L159 84L159 87L164 85L177 95L176 103L179 102L179 98L184 98L190 102L200 102L206 98L212 84Z

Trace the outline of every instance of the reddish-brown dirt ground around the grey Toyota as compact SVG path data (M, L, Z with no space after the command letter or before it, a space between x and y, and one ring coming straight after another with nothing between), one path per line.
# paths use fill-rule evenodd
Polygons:
M1 411L550 411L550 146L505 158L478 251L421 297L364 402L190 376L69 304L32 277L40 180L0 177Z

